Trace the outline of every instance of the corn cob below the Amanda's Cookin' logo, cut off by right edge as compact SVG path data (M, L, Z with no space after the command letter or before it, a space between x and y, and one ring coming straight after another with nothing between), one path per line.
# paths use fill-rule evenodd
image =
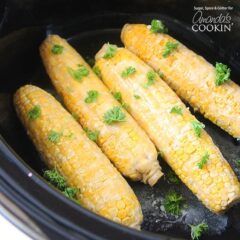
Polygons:
M178 43L167 57L163 56L168 42L176 39L164 33L152 33L144 24L127 24L121 35L126 48L139 56L195 110L240 138L240 87L233 81L216 86L215 68L204 58Z

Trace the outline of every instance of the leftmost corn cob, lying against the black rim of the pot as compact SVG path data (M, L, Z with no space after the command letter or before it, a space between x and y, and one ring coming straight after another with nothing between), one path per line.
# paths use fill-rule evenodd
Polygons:
M138 228L140 204L116 168L81 126L48 93L26 85L14 97L18 116L49 168L79 188L82 206L118 223Z

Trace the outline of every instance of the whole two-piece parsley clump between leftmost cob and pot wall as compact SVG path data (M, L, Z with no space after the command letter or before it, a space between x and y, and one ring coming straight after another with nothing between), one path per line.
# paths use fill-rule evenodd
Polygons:
M55 186L58 190L62 191L62 193L72 199L77 199L77 193L79 192L79 189L74 187L69 187L67 185L67 182L65 178L55 169L53 170L46 170L43 173L43 177L51 183L53 186Z

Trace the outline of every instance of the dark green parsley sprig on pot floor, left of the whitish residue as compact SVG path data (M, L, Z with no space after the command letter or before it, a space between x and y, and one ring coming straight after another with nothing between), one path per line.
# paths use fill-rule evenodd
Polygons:
M170 191L166 194L163 206L166 213L179 216L184 206L185 199L181 194Z

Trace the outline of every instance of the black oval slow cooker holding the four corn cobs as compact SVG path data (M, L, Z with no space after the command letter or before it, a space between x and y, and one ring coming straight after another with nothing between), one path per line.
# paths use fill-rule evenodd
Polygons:
M202 7L210 7L201 11ZM197 13L200 11L200 13ZM194 25L198 16L228 14L227 28L208 23ZM195 16L195 17L194 17ZM229 18L230 16L230 18ZM1 214L34 239L182 239L190 237L187 223L206 219L209 234L204 239L239 239L240 208L227 214L210 213L183 185L189 200L179 219L161 215L162 194L169 185L162 179L156 187L131 183L143 208L142 231L104 219L65 198L42 178L46 167L16 117L12 96L16 89L33 83L51 91L40 61L38 47L48 34L59 34L91 62L104 42L122 45L120 29L128 22L163 20L170 33L214 63L225 62L240 84L240 2L188 0L1 0L0 2L0 203ZM201 25L201 26L200 26ZM197 114L229 160L240 170L239 143ZM163 169L168 169L161 161Z

